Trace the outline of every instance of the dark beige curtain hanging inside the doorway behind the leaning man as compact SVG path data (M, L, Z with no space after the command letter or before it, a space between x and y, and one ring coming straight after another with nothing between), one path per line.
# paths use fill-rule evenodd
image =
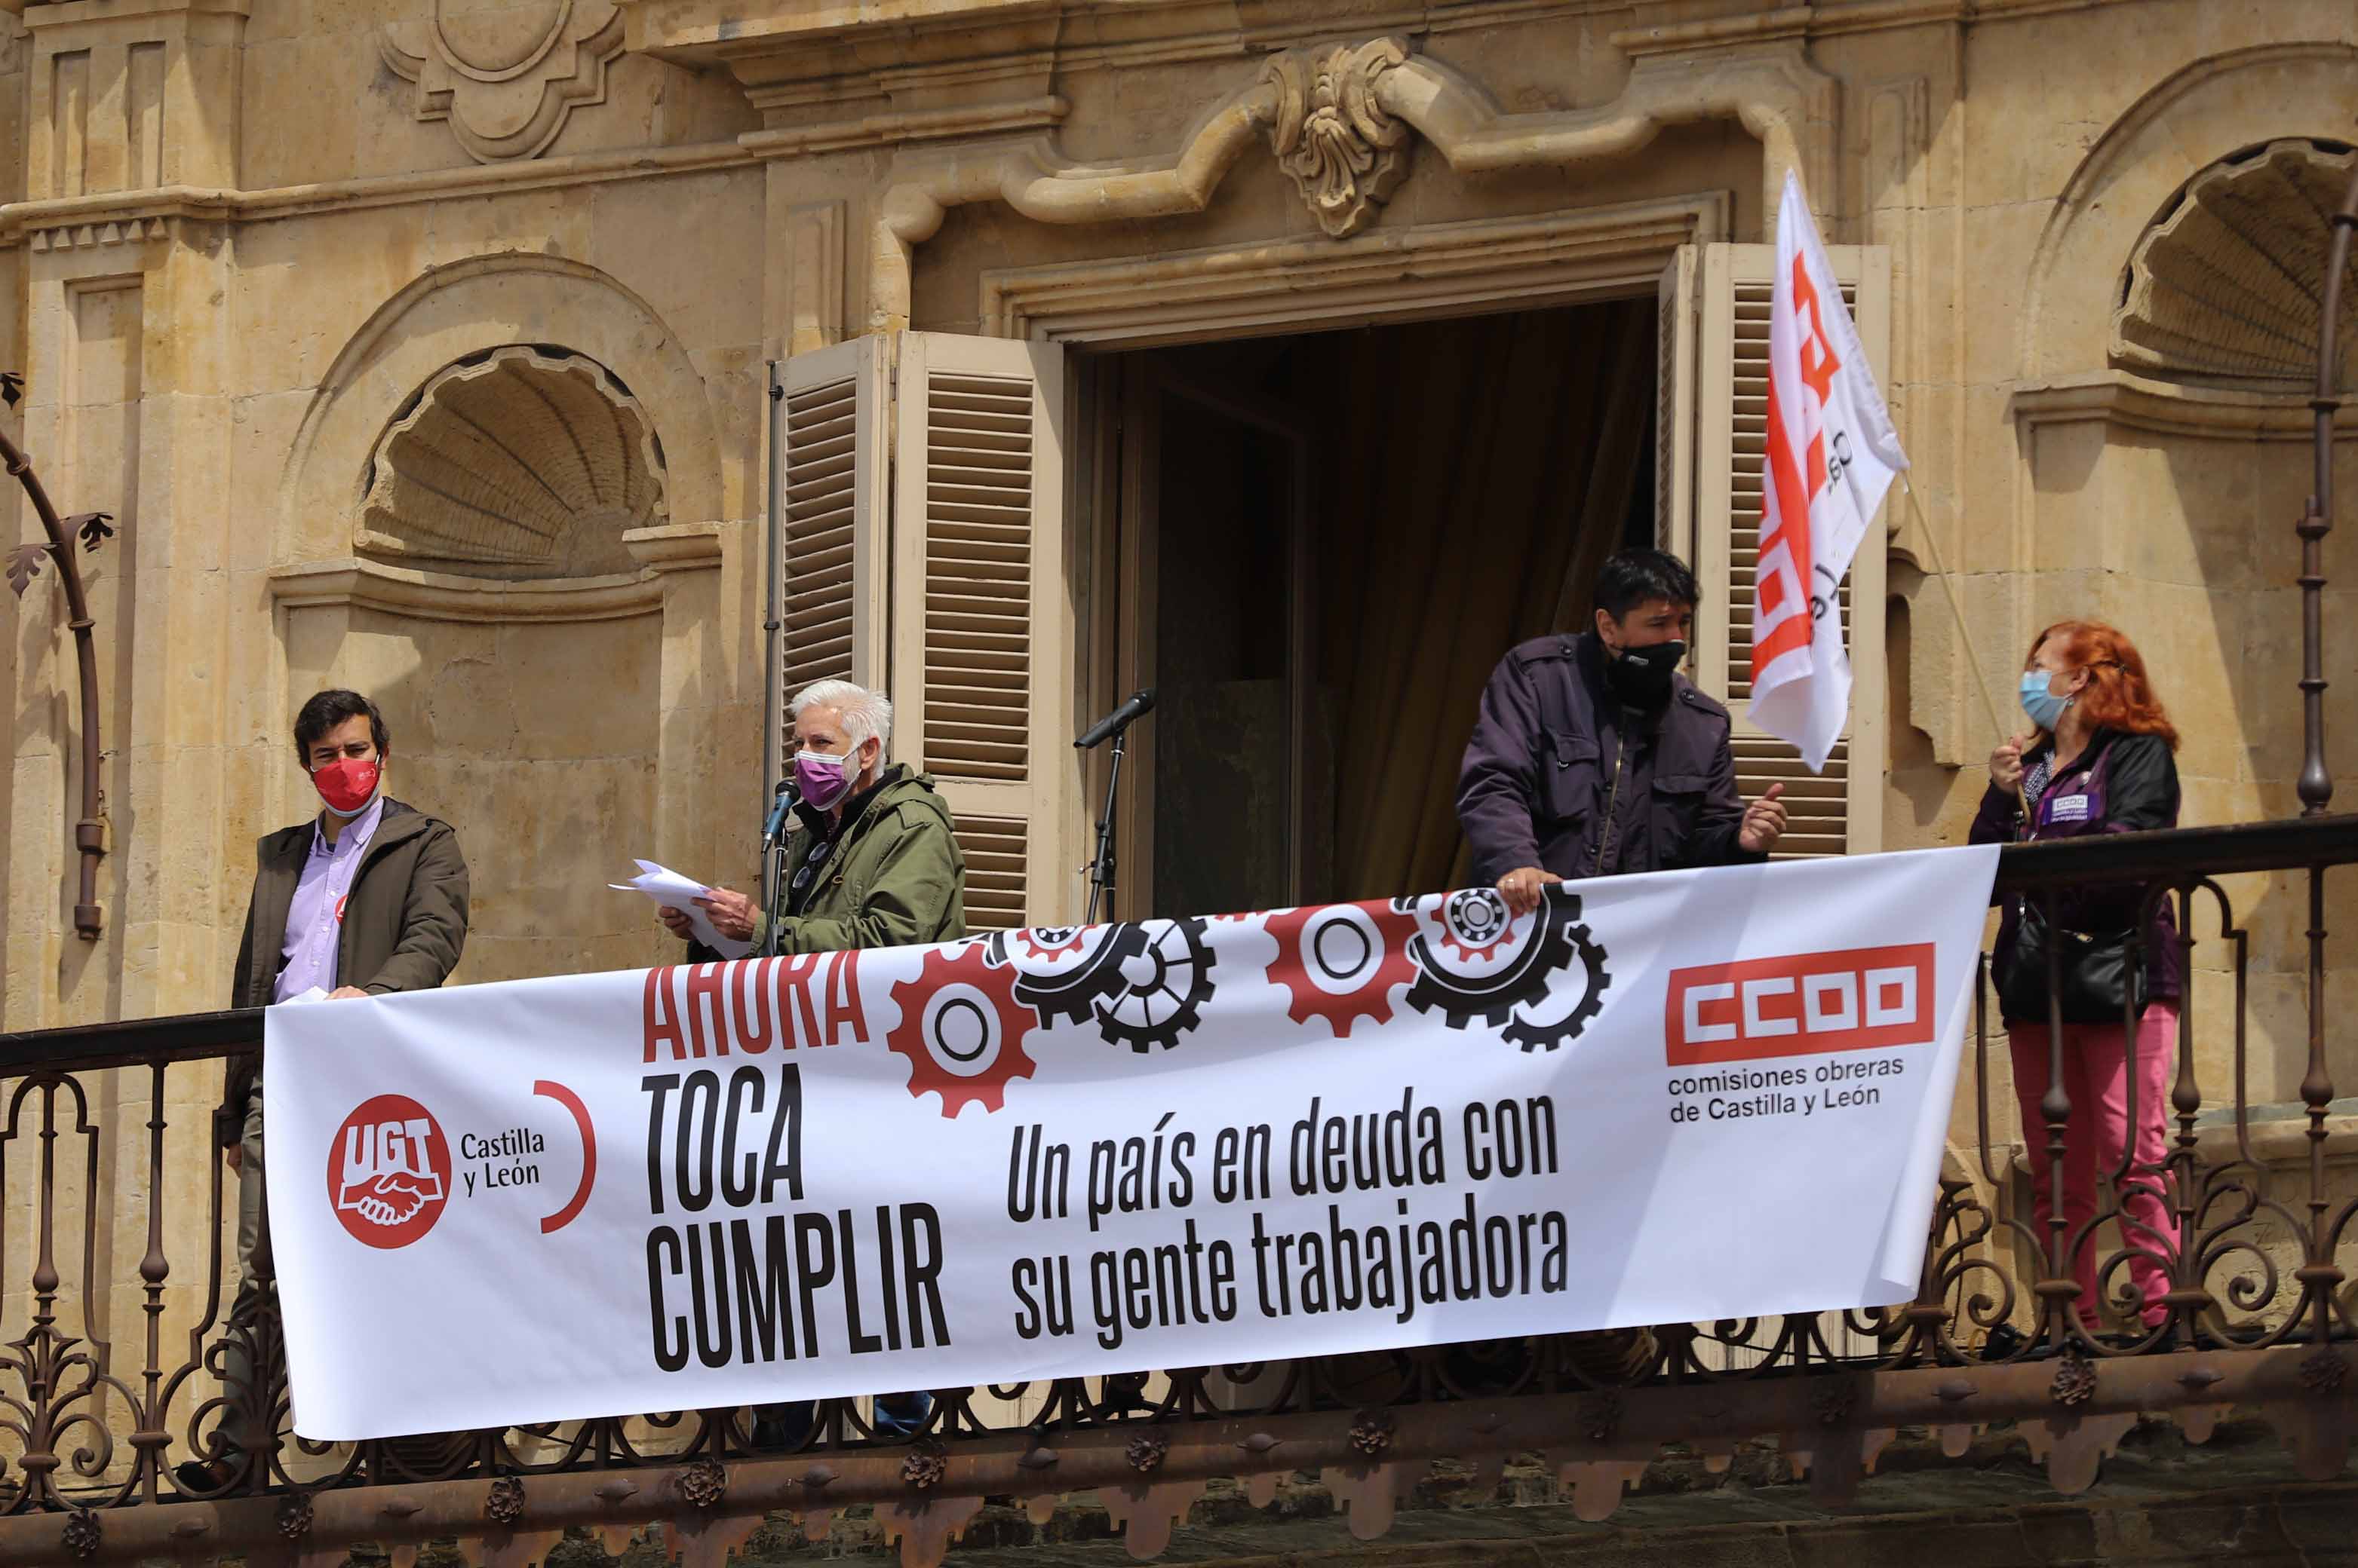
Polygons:
M1587 625L1655 401L1651 299L1339 335L1320 495L1335 894L1464 882L1457 759L1514 644Z

